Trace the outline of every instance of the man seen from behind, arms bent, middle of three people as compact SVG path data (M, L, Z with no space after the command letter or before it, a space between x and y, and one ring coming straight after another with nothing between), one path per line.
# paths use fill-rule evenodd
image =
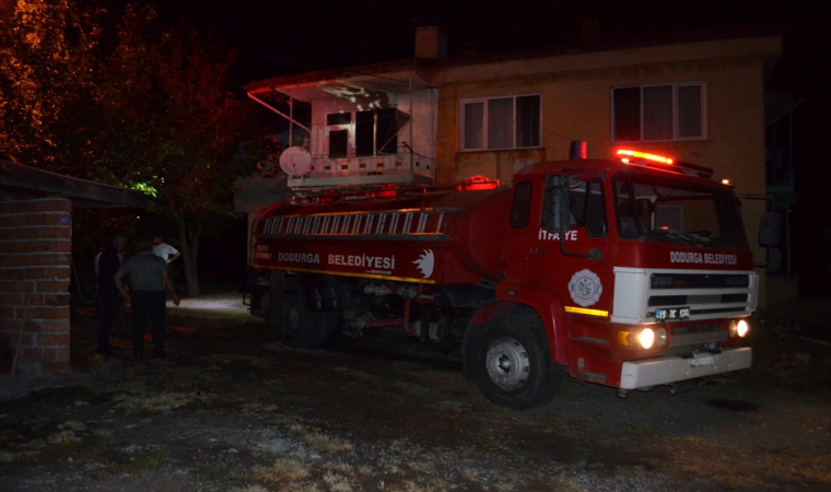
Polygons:
M121 296L128 297L124 277L130 278L132 301L132 353L136 360L144 356L144 324L148 315L153 324L153 358L164 359L165 285L173 293L173 304L179 305L179 295L167 276L167 265L153 254L153 243L141 239L138 254L127 260L115 276Z

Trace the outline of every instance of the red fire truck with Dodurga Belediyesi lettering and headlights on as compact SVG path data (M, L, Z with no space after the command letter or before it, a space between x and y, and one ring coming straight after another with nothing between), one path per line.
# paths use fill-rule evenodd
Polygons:
M758 277L731 186L636 151L528 166L511 188L321 194L253 225L251 312L286 344L401 326L461 338L465 375L527 408L747 368ZM262 273L267 274L262 274Z

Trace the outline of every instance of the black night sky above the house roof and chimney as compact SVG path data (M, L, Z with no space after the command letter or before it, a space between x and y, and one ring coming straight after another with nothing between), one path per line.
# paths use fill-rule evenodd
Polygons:
M580 42L585 19L601 39L674 37L735 27L782 30L817 17L827 1L162 0L163 22L184 19L237 52L236 83L411 58L414 31L438 25L450 56Z

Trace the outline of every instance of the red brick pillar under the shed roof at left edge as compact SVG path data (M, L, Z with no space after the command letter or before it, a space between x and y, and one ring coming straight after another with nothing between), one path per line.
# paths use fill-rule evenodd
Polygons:
M0 201L0 356L10 367L28 303L20 359L69 371L72 202Z

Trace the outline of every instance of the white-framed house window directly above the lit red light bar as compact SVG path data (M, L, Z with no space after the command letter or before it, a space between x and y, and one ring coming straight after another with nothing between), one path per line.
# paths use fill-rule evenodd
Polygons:
M612 89L616 142L704 138L704 84Z

